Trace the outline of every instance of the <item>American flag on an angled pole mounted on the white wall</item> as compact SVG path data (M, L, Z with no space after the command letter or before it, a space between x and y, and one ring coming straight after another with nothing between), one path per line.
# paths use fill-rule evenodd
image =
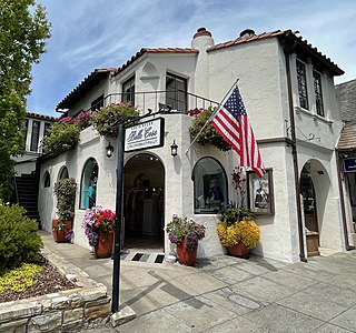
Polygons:
M211 122L225 141L239 154L240 167L249 167L259 178L263 176L266 172L265 167L238 88L235 88L221 103Z

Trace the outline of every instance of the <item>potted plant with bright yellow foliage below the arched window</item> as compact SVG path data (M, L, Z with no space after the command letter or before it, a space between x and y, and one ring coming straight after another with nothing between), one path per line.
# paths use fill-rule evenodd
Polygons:
M257 246L260 230L251 218L251 212L244 208L227 208L221 211L217 233L231 255L246 258L249 250Z

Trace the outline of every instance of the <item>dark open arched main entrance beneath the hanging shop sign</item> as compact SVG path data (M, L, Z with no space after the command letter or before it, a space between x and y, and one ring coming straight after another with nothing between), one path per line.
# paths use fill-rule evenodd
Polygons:
M125 165L126 249L164 252L165 169L154 154L139 153Z

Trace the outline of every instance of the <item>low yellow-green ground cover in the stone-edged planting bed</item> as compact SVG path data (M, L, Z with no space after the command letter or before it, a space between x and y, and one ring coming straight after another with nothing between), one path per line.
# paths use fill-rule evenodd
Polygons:
M18 269L0 270L0 293L6 291L22 292L32 286L34 278L41 273L43 268L38 264L24 263Z

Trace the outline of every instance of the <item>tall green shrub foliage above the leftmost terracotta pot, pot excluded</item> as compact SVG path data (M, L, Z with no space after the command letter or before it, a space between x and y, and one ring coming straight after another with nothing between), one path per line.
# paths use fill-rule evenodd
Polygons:
M56 230L63 230L66 221L72 221L75 218L77 183L73 178L59 180L55 184L55 193L57 195L57 214L59 224Z

